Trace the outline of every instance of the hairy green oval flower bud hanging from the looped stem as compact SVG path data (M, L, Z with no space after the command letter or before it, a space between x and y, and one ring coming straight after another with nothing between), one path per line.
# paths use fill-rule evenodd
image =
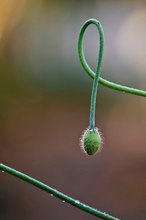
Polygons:
M100 151L102 145L101 134L97 128L86 129L81 138L81 148L87 155L94 155Z

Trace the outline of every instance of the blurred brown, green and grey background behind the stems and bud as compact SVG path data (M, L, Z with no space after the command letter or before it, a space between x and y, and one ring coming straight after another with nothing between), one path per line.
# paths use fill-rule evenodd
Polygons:
M105 31L102 76L146 89L146 1L0 1L0 162L126 220L146 216L146 99L99 86L96 125L102 151L87 157L92 79L77 54L86 19ZM98 32L84 37L95 69ZM1 220L94 220L0 173Z

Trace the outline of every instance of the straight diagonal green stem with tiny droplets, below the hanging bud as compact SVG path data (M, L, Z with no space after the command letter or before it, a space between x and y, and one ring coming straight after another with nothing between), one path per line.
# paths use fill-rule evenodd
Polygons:
M21 173L15 169L12 169L11 167L8 167L4 164L0 164L0 170L7 172L13 176L16 176L19 179L22 179L25 182L28 182L28 183L36 186L37 188L42 189L42 190L54 195L55 197L61 199L62 201L65 201L65 202L85 211L85 212L90 213L91 215L97 216L97 217L99 217L101 219L105 219L105 220L118 220L118 218L116 218L116 217L113 217L113 216L108 215L104 212L101 212L97 209L94 209L88 205L85 205L85 204L79 202L78 200L75 200L75 199L51 188L50 186L47 186L46 184L44 184L44 183L42 183L42 182L40 182L30 176L27 176L24 173Z

